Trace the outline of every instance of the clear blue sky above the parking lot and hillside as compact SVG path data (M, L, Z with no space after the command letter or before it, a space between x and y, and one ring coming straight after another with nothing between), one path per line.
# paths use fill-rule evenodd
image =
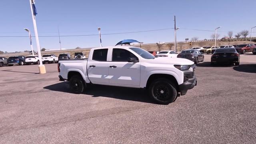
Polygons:
M174 28L177 41L194 36L210 39L214 32L187 29L214 30L220 36L227 31L240 32L256 26L256 0L36 0L36 22L39 36L88 35L118 32L136 32ZM0 36L34 36L29 0L2 0L0 4ZM221 32L222 31L222 32ZM256 36L256 28L253 36ZM103 46L114 46L123 39L144 43L174 41L174 30L132 34L102 35ZM41 48L58 49L58 37L40 37ZM35 38L32 38L34 49ZM61 37L62 48L99 46L98 36ZM30 50L28 37L0 37L1 51Z

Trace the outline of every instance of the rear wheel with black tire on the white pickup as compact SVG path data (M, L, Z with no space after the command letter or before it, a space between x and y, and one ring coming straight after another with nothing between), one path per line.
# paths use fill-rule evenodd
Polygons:
M74 94L81 94L85 89L84 79L80 75L74 75L70 78L69 86Z

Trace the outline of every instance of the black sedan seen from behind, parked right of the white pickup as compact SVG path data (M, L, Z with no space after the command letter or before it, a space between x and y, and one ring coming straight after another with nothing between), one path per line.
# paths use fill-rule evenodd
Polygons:
M218 48L214 54L212 54L211 65L220 63L239 66L240 55L235 48Z

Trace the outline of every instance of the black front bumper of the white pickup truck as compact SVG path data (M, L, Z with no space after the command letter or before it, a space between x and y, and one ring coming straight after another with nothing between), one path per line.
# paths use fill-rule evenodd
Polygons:
M192 72L192 78L186 78L182 84L179 85L180 95L183 96L187 93L188 90L194 88L197 85L196 75ZM186 75L184 75L185 78Z

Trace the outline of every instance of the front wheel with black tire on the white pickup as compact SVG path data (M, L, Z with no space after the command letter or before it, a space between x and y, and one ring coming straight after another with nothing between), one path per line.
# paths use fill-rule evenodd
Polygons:
M166 78L158 78L149 86L149 95L158 104L170 104L177 97L175 85Z

